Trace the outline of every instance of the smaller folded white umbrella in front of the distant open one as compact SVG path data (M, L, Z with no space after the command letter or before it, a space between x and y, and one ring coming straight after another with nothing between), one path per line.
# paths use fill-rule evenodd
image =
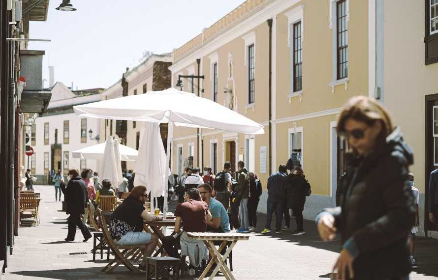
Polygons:
M105 151L103 152L102 167L100 169L99 177L102 180L103 179L110 180L113 186L118 186L122 182L121 176L119 177L119 174L122 173L122 165L120 164L120 160L119 160L119 164L116 161L114 140L111 137L108 137L105 143L106 143Z

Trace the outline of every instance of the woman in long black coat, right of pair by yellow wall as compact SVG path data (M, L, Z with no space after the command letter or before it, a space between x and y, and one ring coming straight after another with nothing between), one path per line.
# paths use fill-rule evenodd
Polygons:
M306 203L307 180L304 171L300 167L293 168L293 172L284 178L287 196L287 209L292 209L295 215L297 228L292 235L302 235L306 232L303 227L303 210Z

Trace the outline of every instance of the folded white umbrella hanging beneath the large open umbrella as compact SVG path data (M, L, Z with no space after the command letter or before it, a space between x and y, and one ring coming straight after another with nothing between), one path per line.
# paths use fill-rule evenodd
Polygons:
M166 152L158 123L142 124L138 154L134 167L134 186L145 186L147 192L150 191L153 196L162 196L163 190L167 187Z

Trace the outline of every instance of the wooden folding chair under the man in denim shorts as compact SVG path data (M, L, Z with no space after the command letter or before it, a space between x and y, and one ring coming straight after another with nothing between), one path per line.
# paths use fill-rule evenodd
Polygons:
M110 261L101 271L106 271L105 273L112 272L116 267L118 267L120 264L123 264L126 266L127 269L133 272L142 273L138 269L136 265L139 264L138 261L133 261L129 259L132 254L134 254L137 250L142 250L143 254L145 251L145 245L116 245L114 244L113 239L111 238L111 234L108 230L108 226L106 225L103 217L103 211L100 209L97 209L97 212L99 213L99 222L100 222L100 228L102 229L103 237L105 238L109 248L114 253L114 259ZM122 250L122 251L121 251Z

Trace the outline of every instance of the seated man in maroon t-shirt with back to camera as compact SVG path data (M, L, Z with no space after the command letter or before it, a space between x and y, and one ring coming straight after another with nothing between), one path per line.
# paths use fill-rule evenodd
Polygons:
M174 245L180 244L181 221L184 223L184 231L186 232L205 232L207 221L212 219L207 203L202 201L199 191L195 188L187 190L185 202L176 206L175 216L174 232L163 238L164 249L171 257L175 256Z

